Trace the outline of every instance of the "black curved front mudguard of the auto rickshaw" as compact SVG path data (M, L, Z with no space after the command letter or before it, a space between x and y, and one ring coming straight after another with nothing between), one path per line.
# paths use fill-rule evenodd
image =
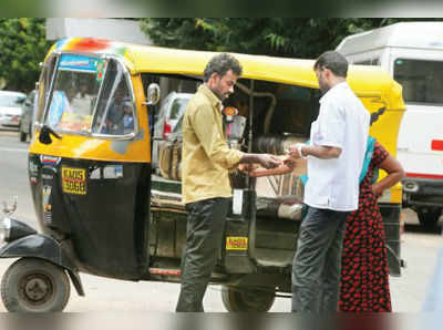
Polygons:
M0 258L33 257L44 259L65 269L79 296L85 296L79 271L55 239L33 234L16 239L0 248Z

